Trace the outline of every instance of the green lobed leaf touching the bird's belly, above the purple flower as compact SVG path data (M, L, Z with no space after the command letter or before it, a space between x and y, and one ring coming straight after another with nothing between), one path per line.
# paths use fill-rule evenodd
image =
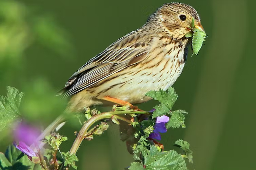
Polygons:
M161 89L159 91L149 91L146 93L146 96L161 102L160 105L154 107L155 111L153 112L153 118L162 116L172 110L174 103L178 98L178 95L172 87L170 87L167 92Z

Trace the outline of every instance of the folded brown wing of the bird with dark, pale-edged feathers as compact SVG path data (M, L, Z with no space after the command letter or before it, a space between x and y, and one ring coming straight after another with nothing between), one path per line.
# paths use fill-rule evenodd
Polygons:
M63 97L78 93L83 89L134 65L144 59L149 51L152 36L134 31L120 38L100 54L90 59L76 71L66 83Z

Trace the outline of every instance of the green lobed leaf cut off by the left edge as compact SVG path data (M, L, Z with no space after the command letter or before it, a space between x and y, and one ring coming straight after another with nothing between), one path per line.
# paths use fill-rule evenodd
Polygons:
M14 87L7 87L7 97L0 96L0 131L20 116L18 110L23 93Z

